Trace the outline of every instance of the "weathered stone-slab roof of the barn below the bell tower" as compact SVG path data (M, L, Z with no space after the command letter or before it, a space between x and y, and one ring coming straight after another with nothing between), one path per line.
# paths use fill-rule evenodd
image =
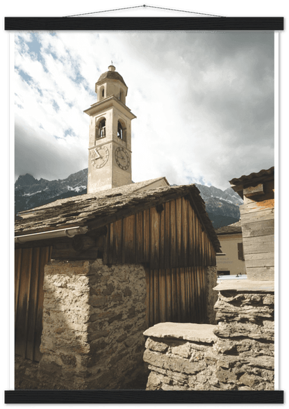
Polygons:
M64 227L88 226L90 230L102 227L119 218L138 213L143 207L153 207L163 202L188 195L215 250L220 241L206 213L205 202L195 184L163 186L140 191L163 177L121 186L119 188L60 199L28 211L22 211L21 220L15 220L15 236L48 232Z

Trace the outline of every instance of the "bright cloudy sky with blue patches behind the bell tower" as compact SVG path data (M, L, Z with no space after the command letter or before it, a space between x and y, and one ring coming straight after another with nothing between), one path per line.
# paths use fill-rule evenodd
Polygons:
M220 189L274 165L274 33L15 33L15 179L88 167L94 84L113 61L129 87L133 181Z

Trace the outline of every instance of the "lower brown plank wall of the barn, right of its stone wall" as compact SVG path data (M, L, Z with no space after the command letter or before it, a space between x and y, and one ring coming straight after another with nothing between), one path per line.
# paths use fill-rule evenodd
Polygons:
M147 326L159 322L206 323L206 267L147 271Z

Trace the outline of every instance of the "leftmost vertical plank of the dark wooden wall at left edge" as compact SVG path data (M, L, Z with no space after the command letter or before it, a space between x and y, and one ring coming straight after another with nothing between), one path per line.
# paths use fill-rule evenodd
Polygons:
M21 278L17 317L15 321L15 353L25 358L28 325L28 303L30 296L32 248L22 250Z

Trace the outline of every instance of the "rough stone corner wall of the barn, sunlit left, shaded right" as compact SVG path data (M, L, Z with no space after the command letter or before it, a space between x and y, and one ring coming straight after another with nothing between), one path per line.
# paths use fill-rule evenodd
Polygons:
M39 389L118 389L145 373L142 265L52 261L44 268Z

